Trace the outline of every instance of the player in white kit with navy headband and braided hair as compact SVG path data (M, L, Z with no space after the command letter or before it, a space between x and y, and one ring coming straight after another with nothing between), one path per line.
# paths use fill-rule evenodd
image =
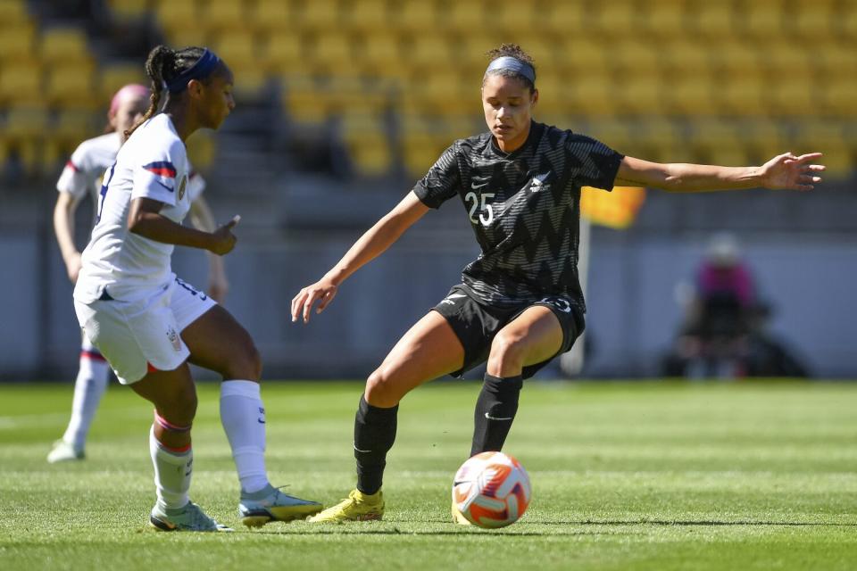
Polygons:
M146 60L152 103L104 175L96 228L82 255L74 305L80 327L123 385L154 403L149 450L157 501L149 522L163 531L223 531L188 490L196 386L188 362L220 373L220 419L235 460L238 515L248 526L304 518L321 509L271 486L265 469L262 362L227 310L171 270L175 244L216 254L236 243L238 217L214 232L181 225L190 208L184 141L218 128L235 107L232 73L199 47L157 46ZM166 101L161 108L162 91Z

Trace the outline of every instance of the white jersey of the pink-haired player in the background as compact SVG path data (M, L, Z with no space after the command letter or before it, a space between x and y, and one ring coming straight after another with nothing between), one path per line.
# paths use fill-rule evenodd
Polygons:
M60 179L56 181L57 191L71 194L75 201L89 194L93 204L93 222L97 214L102 176L116 161L120 146L121 136L115 132L87 139L71 153L71 159L65 163ZM194 202L203 194L205 179L189 166L188 170L191 174L187 179L187 194L190 196L190 202Z

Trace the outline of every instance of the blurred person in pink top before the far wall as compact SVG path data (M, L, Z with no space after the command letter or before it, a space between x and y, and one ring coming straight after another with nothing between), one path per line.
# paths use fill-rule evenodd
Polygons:
M770 305L758 299L734 236L712 238L692 289L685 323L663 363L665 376L808 377L770 335Z

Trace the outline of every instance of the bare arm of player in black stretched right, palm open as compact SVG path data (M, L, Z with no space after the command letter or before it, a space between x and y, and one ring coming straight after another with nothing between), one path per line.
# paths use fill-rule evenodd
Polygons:
M703 164L642 161L625 157L616 175L617 185L651 186L670 192L703 192L739 188L812 190L821 182L824 165L811 164L821 153L780 154L761 167L720 167Z

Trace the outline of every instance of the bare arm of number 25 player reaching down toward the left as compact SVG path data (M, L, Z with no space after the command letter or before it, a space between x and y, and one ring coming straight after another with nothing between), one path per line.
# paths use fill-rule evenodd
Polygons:
M292 321L303 317L304 323L309 322L315 302L319 302L317 313L324 310L333 301L337 288L345 278L387 250L426 212L428 206L421 203L413 192L408 193L402 202L396 204L392 211L367 230L324 277L312 285L307 285L295 295L292 300Z

